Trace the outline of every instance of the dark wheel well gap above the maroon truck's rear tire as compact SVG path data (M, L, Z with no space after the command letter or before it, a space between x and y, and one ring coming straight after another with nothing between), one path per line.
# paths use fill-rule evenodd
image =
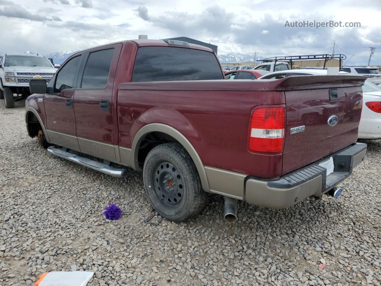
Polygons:
M169 142L177 142L176 139L174 139L172 136L163 133L163 132L150 132L144 135L144 137L141 139L139 148L138 148L138 165L139 168L143 168L144 161L146 160L146 157L155 146L169 143Z

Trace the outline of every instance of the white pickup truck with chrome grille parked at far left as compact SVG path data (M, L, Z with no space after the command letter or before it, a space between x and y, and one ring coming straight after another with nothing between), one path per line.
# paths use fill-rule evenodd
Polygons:
M45 56L28 53L0 55L0 99L5 100L5 108L14 108L14 101L30 95L30 79L45 79L47 84L55 72Z

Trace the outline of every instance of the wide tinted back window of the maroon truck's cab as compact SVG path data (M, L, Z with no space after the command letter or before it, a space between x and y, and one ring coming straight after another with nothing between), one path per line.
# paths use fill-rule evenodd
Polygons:
M223 79L216 56L208 51L176 47L140 47L133 82Z

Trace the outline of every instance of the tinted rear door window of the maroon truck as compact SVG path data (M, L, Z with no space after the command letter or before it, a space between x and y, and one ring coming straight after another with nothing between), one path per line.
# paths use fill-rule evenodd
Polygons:
M81 88L105 88L109 80L114 49L94 51L87 59Z

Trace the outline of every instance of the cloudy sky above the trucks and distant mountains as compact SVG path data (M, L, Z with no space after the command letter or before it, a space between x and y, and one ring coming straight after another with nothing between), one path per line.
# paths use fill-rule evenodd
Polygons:
M48 54L147 34L187 36L218 45L218 53L261 57L343 53L381 64L381 1L277 0L0 0L0 52ZM286 21L360 22L361 27L285 27Z

